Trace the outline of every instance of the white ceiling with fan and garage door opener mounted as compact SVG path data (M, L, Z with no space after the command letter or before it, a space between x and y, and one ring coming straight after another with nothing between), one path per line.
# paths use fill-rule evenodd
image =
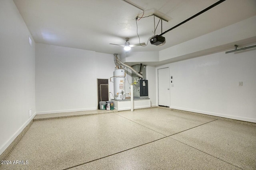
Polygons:
M218 0L127 0L144 9L144 16L157 14L163 32L190 18ZM136 16L142 10L124 0L14 0L35 42L103 53L122 53L124 38L139 43ZM226 0L182 26L164 34L166 44L138 46L132 51L160 51L256 15L256 0ZM156 24L158 18L156 18ZM161 33L160 25L156 34ZM138 20L141 42L153 35L154 17Z

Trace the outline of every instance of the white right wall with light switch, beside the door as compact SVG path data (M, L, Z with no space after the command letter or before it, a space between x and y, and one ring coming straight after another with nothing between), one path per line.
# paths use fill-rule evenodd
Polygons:
M156 69L166 66L174 85L170 108L256 122L255 49L218 52Z

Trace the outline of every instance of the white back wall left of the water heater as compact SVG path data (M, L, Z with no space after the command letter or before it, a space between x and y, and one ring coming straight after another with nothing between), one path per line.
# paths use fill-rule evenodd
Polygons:
M114 67L112 54L37 43L37 114L96 110L97 78L112 77Z

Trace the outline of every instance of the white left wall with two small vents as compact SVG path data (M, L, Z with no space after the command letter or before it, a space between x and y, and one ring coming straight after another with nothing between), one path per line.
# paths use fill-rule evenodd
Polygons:
M0 154L35 113L35 43L12 0L0 1ZM28 36L32 47L28 44Z

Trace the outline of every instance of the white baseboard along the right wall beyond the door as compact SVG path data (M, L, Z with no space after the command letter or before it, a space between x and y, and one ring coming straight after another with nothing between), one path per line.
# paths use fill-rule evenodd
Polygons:
M206 111L202 111L202 110L192 110L192 109L188 109L188 108L178 108L178 107L173 107L173 106L170 106L170 108L177 109L177 110L184 110L184 111L188 111L188 112L208 114L208 115L218 116L218 117L222 117L222 118L229 118L229 119L242 120L242 121L246 121L246 122L256 123L256 119L254 119L254 118L245 118L245 117L240 117L240 116L232 116L232 115L228 115L228 114L219 114L219 113L214 113L214 112L206 112Z

